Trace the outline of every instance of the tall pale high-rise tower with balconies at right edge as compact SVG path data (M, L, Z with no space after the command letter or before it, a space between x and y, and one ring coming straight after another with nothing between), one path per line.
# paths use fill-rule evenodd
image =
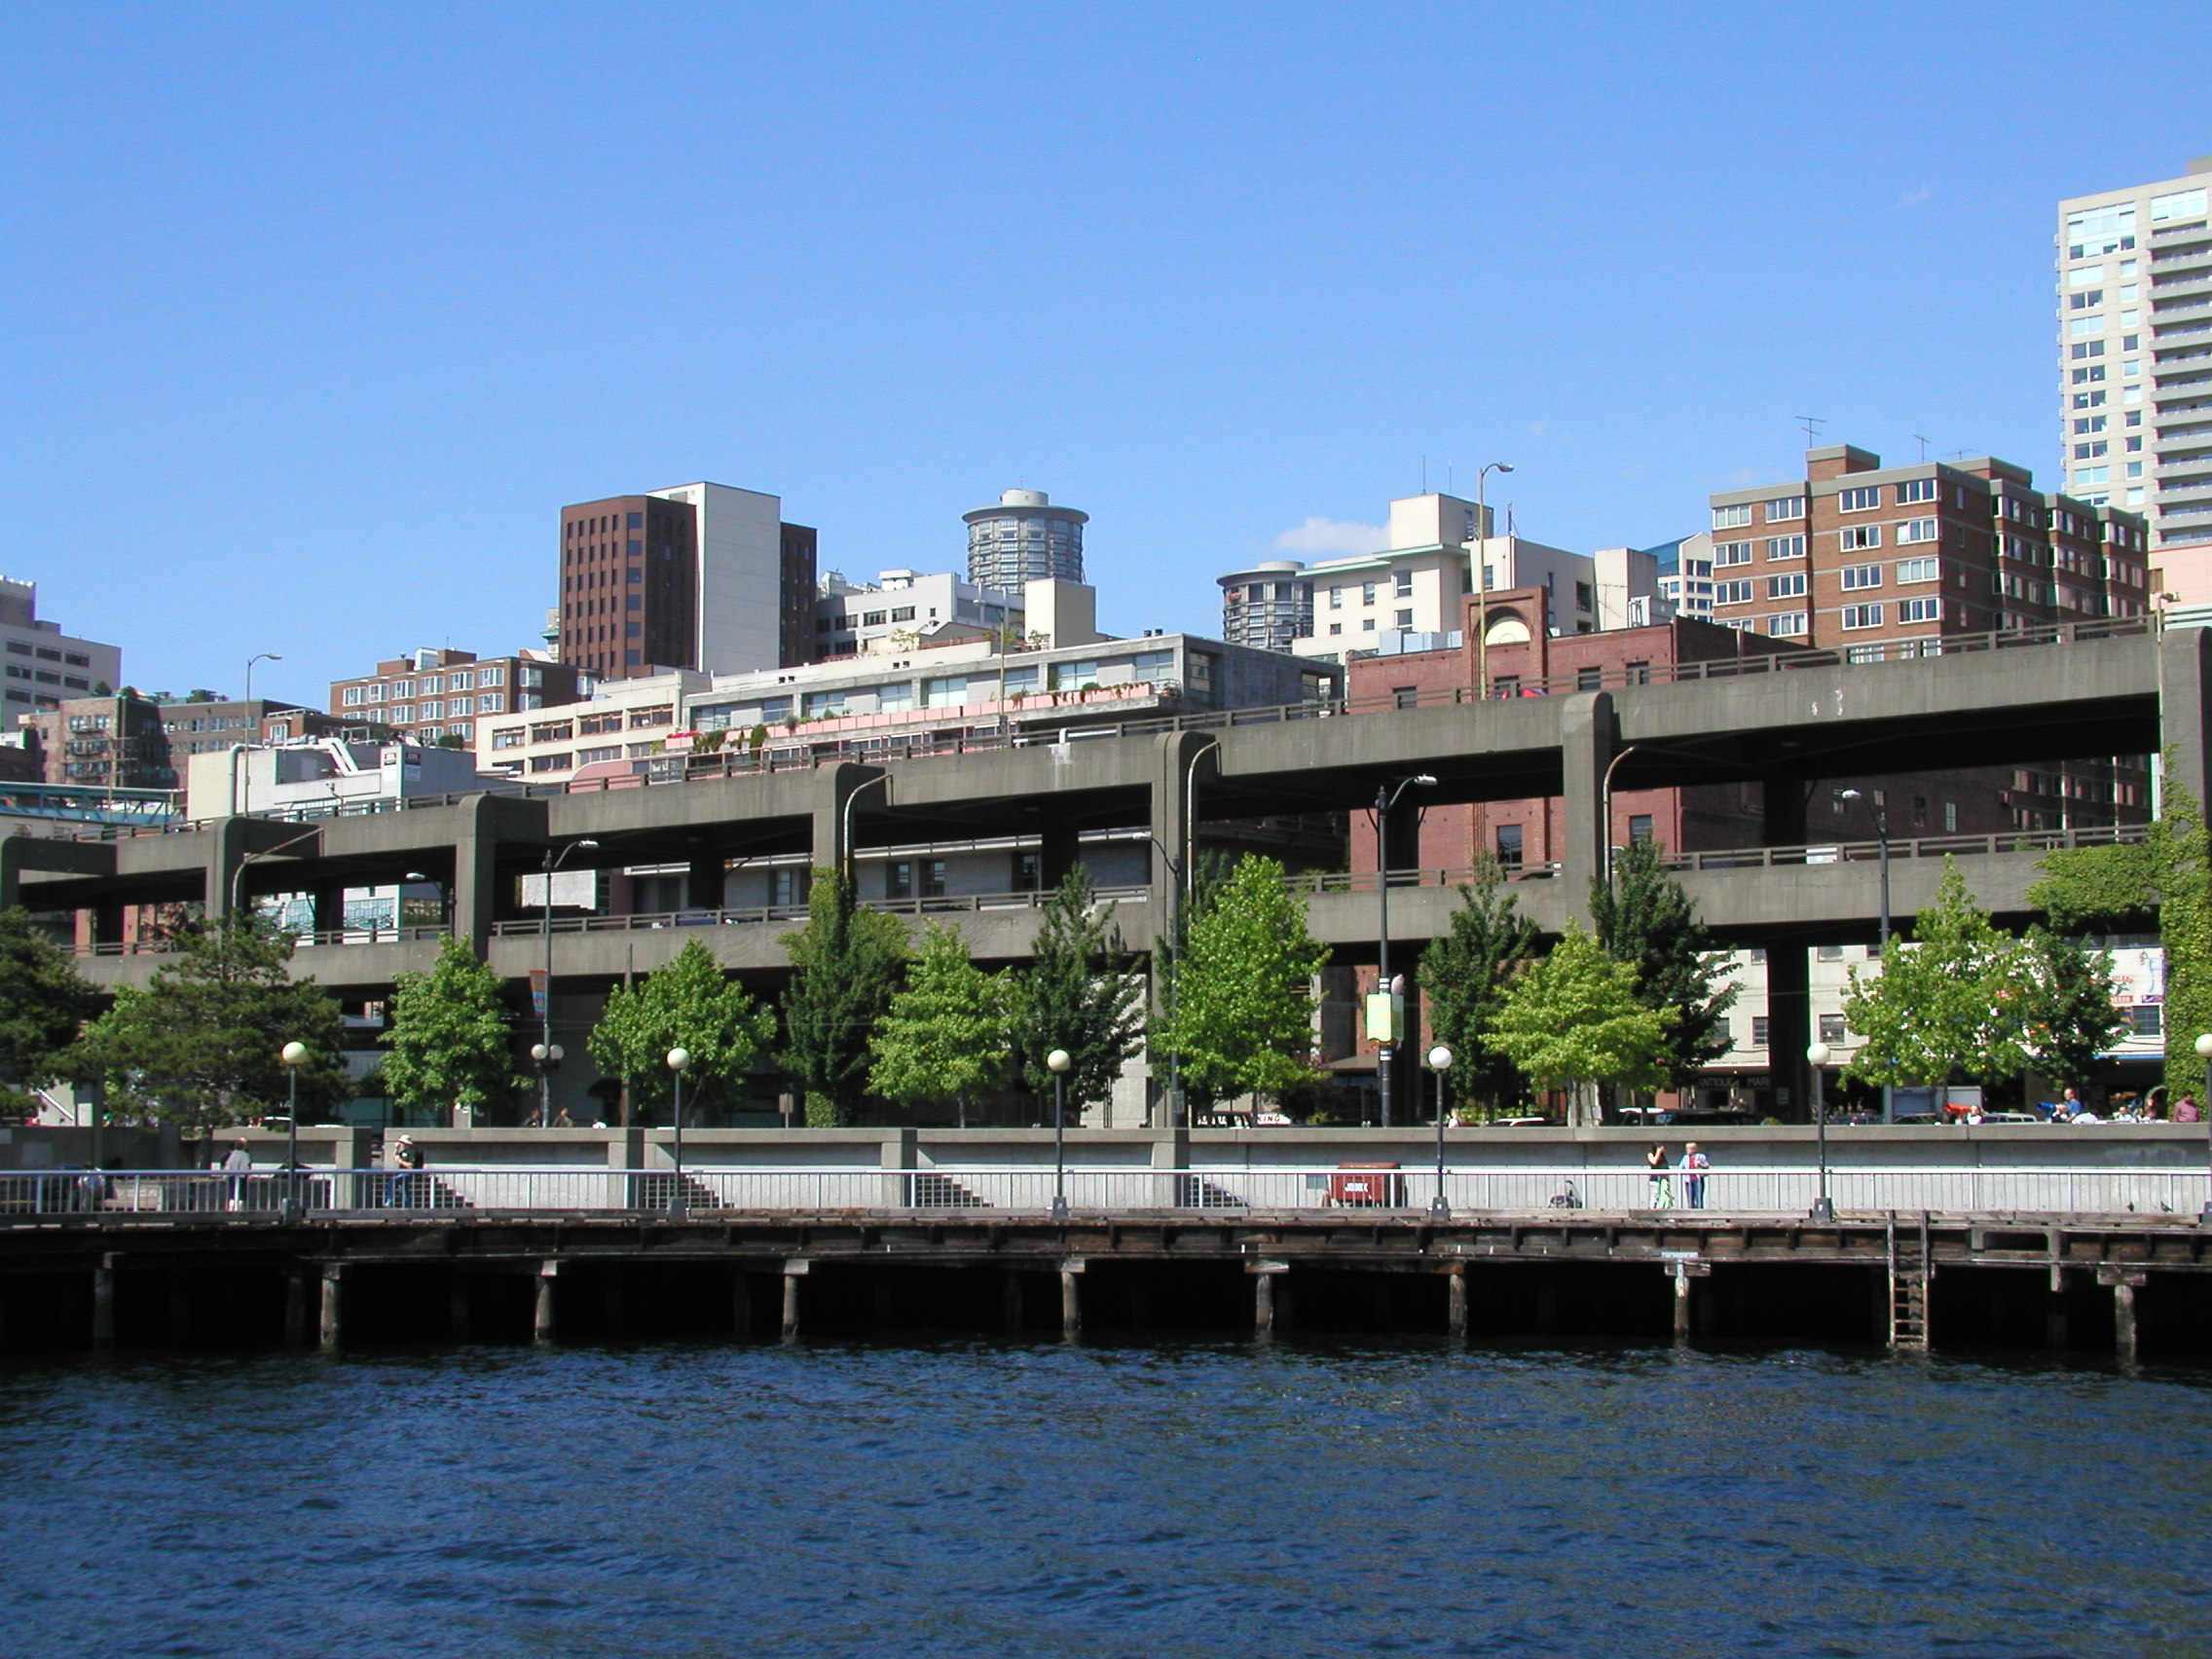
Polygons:
M2161 586L2212 602L2212 155L2059 204L2066 493L2150 520Z

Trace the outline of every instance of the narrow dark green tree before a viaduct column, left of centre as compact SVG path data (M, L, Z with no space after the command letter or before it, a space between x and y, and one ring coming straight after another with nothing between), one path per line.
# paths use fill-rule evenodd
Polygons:
M860 909L843 872L816 869L807 925L783 949L783 1068L807 1093L810 1124L849 1124L867 1097L869 1042L907 969L907 925Z

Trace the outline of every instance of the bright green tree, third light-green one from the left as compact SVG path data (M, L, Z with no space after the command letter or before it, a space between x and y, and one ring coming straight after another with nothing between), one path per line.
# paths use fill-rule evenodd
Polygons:
M876 1026L869 1088L909 1106L969 1108L1013 1068L1006 975L969 962L958 927L929 927Z

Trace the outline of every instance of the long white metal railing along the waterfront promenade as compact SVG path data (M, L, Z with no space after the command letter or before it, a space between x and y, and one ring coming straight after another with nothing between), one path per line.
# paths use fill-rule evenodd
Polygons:
M1805 1214L1820 1177L1803 1166L1668 1170L1637 1166L1447 1166L1444 1199L1460 1217L1601 1210L1705 1210L1712 1214ZM1427 1210L1436 1170L1420 1166L1194 1166L1183 1170L1071 1168L1051 1164L942 1166L686 1166L681 1194L692 1210L995 1210L1042 1212L1064 1190L1071 1210L1285 1212ZM577 1214L666 1210L679 1192L672 1168L451 1166L422 1170L285 1172L230 1170L0 1170L0 1221L53 1214L195 1214L268 1219L296 1194L314 1214L458 1212ZM1949 1214L2188 1214L2212 1179L2177 1168L1832 1168L1829 1194L1843 1212L1938 1210Z

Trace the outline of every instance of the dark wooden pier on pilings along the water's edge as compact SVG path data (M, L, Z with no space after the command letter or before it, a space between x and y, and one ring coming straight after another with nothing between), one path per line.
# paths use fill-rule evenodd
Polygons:
M2212 1349L2181 1217L692 1212L53 1217L0 1347L1029 1332Z

